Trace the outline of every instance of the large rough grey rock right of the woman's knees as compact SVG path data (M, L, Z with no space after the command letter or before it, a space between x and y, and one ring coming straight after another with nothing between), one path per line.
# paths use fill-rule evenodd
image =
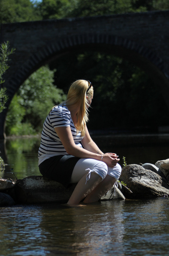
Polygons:
M119 180L124 181L132 191L130 195L123 192L126 198L139 199L169 195L169 186L161 176L137 164L123 167Z

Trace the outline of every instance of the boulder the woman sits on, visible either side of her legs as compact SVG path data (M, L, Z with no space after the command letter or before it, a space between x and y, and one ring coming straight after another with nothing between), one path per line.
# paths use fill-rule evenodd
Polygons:
M76 187L76 184L65 188L62 184L48 180L42 176L29 176L18 180L15 186L15 197L17 203L46 203L46 202L67 202ZM116 188L109 190L101 200L125 199L122 192Z

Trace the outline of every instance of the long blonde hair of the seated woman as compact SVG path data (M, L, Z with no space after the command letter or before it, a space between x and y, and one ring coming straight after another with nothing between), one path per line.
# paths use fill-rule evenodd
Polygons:
M87 102L86 96L91 98L93 96L93 86L86 93L89 88L89 82L86 80L77 80L72 83L69 88L66 105L77 105L80 106L78 113L76 114L76 130L77 133L81 132L82 136L85 134L84 127L89 121L88 107L89 103Z

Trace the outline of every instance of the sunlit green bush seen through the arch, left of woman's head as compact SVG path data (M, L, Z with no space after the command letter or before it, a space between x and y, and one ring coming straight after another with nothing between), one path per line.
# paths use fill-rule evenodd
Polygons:
M54 71L42 66L21 85L11 101L7 118L7 135L35 134L42 131L50 109L65 100L61 89L53 85Z

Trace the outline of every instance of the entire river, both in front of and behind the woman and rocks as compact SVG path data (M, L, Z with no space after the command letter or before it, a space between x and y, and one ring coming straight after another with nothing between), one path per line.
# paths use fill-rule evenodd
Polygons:
M169 135L93 136L123 165L169 158ZM7 139L3 178L39 175L39 138ZM112 200L85 206L30 204L0 207L0 256L168 256L169 198Z

